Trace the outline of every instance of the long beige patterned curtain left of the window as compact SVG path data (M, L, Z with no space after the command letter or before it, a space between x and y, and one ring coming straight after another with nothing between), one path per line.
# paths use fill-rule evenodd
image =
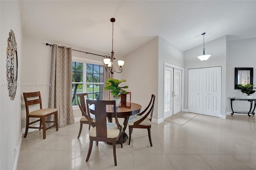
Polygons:
M58 109L59 127L74 123L72 110L72 50L67 47L52 47L49 108ZM52 121L54 117L50 117Z

